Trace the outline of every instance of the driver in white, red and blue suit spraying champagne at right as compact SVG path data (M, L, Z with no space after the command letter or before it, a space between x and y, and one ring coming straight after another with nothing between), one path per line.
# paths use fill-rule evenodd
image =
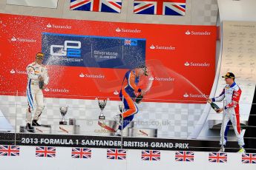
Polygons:
M209 103L214 101L223 101L226 98L226 106L224 108L217 109L217 113L223 112L224 121L223 126L221 126L220 130L220 145L226 145L227 141L227 133L229 132L229 126L233 126L234 133L238 139L238 145L240 146L239 152L245 152L243 134L241 134L240 128L240 114L239 114L239 100L242 90L240 87L234 82L234 74L232 72L227 72L226 75L223 76L226 81L226 86L223 89L223 92L217 98L208 98L207 101ZM224 135L223 135L224 130ZM224 138L223 138L224 137ZM220 149L220 152L225 152L225 149Z

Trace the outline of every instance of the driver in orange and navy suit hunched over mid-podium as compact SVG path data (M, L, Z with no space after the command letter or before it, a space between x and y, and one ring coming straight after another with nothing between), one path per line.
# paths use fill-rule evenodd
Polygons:
M141 65L125 73L119 93L119 98L124 104L124 112L115 116L116 123L119 125L115 129L116 135L121 134L122 129L125 129L131 123L134 115L139 111L136 103L140 103L146 92L138 86L142 76L148 76L148 68L145 65ZM139 95L136 96L136 93L139 93Z

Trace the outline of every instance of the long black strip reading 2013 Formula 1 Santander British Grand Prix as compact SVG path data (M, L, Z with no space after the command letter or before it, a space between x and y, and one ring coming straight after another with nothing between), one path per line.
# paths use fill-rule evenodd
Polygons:
M0 133L1 145L63 146L108 149L156 149L216 152L217 140L184 140L139 137L101 137L82 135L41 135L26 133ZM226 152L237 152L237 141L229 141Z

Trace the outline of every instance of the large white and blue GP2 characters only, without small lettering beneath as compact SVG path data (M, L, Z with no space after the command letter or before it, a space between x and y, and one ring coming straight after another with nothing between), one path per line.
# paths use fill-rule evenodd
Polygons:
M50 55L66 56L67 58L81 57L81 42L80 41L64 41L64 45L51 45Z

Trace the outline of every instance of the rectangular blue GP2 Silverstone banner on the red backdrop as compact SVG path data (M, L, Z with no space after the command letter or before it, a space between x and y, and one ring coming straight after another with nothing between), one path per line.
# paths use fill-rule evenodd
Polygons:
M145 39L42 33L47 65L134 69L145 64Z

